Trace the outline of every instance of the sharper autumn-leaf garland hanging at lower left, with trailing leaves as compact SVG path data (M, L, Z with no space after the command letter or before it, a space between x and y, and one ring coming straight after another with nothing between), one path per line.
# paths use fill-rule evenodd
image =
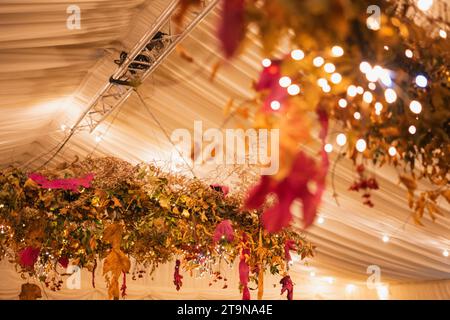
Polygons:
M24 279L37 277L52 290L61 288L57 270L69 262L94 273L103 260L109 298L119 299L126 295L130 257L144 272L176 261L177 290L183 271L209 272L216 282L222 278L216 262L240 259L248 271L242 290L250 298L247 284L261 283L264 271L286 272L286 241L302 259L314 253L293 230L263 231L259 212L242 210L242 196L228 188L151 165L101 158L31 174L7 168L0 186L0 257L16 263Z

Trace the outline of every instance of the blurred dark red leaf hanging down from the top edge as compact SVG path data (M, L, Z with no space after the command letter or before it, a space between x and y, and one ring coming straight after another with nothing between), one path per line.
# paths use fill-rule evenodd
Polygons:
M245 0L223 0L219 39L227 58L231 58L245 35Z

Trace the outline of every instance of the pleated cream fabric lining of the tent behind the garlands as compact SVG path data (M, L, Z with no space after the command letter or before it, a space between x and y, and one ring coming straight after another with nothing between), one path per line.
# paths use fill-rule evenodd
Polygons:
M136 45L169 2L80 0L82 26L70 30L65 27L66 8L72 1L2 1L0 165L32 170L49 160L67 136L64 129L74 125L108 83L117 69L114 59ZM139 87L146 106L132 93L93 133L75 134L50 164L76 157L114 156L133 164L155 162L177 170L180 160L164 131L192 131L196 120L205 127L221 127L228 99L251 99L250 84L260 70L261 44L254 37L246 43L245 53L225 62L211 81L215 63L222 60L216 36L219 14L218 7L213 9L183 40L191 62L173 51ZM226 126L236 125L235 121ZM331 154L332 159L336 157ZM450 258L443 255L450 250L449 205L439 202L443 215L436 221L424 216L423 226L418 226L395 169L368 169L380 184L372 195L373 208L361 203L360 194L347 191L354 180L351 161L338 162L333 181L338 203L328 187L319 220L305 231L317 246L317 254L312 259L294 259L290 269L294 298L450 299ZM198 169L196 174L222 179L214 168ZM383 241L385 235L389 241ZM370 266L379 267L385 292L367 287ZM240 298L237 265L222 266L229 279L227 289L220 284L209 286L208 276L186 274L180 291L172 284L173 267L171 262L142 279L128 277L127 299ZM20 274L6 260L1 261L0 270L0 299L18 299L24 282ZM42 287L43 299L105 299L106 284L98 280L94 289L91 277L83 270L79 289L53 292ZM101 267L96 277L102 278ZM267 274L264 289L265 299L285 299L280 296L277 277Z

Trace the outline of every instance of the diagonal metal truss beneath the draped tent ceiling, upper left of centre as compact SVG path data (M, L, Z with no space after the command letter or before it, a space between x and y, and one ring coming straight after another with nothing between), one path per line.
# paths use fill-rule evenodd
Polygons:
M205 0L196 15L172 34L171 20L176 14L179 0L172 1L158 17L149 31L129 53L122 52L119 65L109 82L97 93L86 110L75 122L70 134L79 130L92 133L114 110L119 108L131 95L135 87L145 81L164 61L176 46L214 9L219 0ZM181 31L180 31L181 29ZM65 141L66 143L67 141ZM65 144L64 143L64 144Z

